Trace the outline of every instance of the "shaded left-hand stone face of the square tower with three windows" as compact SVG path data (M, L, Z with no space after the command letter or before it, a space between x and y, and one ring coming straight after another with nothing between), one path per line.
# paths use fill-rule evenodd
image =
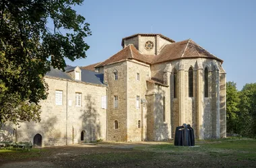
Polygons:
M118 73L117 80L114 80L114 71ZM127 141L127 61L104 66L104 82L108 83L107 140ZM117 108L114 108L115 95L118 96Z

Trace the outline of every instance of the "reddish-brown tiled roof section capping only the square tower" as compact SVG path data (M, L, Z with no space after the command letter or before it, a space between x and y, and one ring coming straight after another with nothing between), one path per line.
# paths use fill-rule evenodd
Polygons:
M135 59L150 64L153 58L154 56L139 53L139 51L135 48L135 46L133 46L133 44L129 44L127 47L123 48L123 50L117 52L117 54L111 56L104 62L101 62L99 65L96 65L96 67L102 67L104 65L126 59Z

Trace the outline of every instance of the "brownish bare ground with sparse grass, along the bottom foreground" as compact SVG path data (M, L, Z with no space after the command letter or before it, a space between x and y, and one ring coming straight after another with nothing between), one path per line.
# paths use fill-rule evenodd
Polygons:
M253 167L256 161L236 161L205 153L156 153L134 149L159 144L81 144L46 148L25 159L1 159L0 167ZM21 153L23 155L23 153Z

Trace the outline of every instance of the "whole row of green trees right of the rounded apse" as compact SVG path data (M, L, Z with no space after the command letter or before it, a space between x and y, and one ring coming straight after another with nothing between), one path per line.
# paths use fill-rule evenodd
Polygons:
M226 119L228 133L256 137L256 83L247 83L241 91L236 83L226 83Z

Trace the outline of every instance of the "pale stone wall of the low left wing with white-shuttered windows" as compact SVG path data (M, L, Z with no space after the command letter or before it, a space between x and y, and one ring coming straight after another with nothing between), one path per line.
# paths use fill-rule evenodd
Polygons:
M42 146L75 144L106 139L106 110L101 108L106 87L89 83L45 78L49 95L40 101L41 121L22 122L16 127L17 141L31 141L36 134L42 136ZM55 91L63 91L62 105L55 105ZM75 106L75 93L82 93L82 106Z

